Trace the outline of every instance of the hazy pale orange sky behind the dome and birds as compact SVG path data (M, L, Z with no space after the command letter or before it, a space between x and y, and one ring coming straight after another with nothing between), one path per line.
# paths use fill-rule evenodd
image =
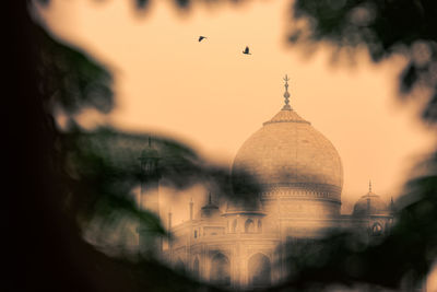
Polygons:
M395 97L402 59L375 66L363 52L356 67L333 67L328 47L306 58L286 44L287 1L199 4L186 15L168 1L152 1L146 13L131 2L58 0L44 12L57 36L115 74L117 107L105 121L175 137L231 165L281 109L287 73L293 108L342 157L346 211L369 178L375 192L397 196L412 159L429 149L416 113ZM241 54L246 45L252 55ZM83 120L102 121L91 114Z

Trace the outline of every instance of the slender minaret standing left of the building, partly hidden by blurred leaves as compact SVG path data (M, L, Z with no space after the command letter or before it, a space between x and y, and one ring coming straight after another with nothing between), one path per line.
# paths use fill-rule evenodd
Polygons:
M140 209L152 212L160 218L160 155L152 148L152 139L149 137L149 145L141 152L139 157L141 167L141 195ZM143 255L157 255L162 252L162 237L157 235L153 226L140 225L138 229L140 237L140 252Z

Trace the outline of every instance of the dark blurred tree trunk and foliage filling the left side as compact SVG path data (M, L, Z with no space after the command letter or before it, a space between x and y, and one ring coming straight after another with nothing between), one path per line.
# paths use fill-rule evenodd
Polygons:
M14 222L9 236L11 250L17 253L9 253L7 262L12 275L22 277L11 280L11 290L197 289L199 283L187 276L126 245L132 233L127 227L138 223L156 236L167 232L135 201L142 177L138 157L151 135L110 127L85 130L75 121L87 108L102 114L113 109L111 74L48 34L31 17L29 1L10 8L16 30L10 38L13 49L8 56L14 63L9 77L16 83L5 85L14 93L17 114L8 116L13 129L8 137L13 141L8 180L15 194L5 221ZM59 115L67 117L62 129L55 119ZM228 180L227 172L208 165L177 141L154 137L153 143L169 186Z

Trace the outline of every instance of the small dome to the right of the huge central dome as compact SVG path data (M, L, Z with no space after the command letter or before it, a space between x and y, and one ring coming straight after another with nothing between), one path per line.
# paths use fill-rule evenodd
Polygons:
M369 191L355 203L353 215L388 215L389 213L390 210L387 203L369 189Z

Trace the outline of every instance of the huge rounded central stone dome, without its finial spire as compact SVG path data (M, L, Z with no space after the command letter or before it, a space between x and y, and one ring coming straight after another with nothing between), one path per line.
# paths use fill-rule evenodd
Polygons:
M307 192L340 202L343 167L339 153L287 104L246 140L232 172L234 185L249 176L264 192L287 188L298 196Z

